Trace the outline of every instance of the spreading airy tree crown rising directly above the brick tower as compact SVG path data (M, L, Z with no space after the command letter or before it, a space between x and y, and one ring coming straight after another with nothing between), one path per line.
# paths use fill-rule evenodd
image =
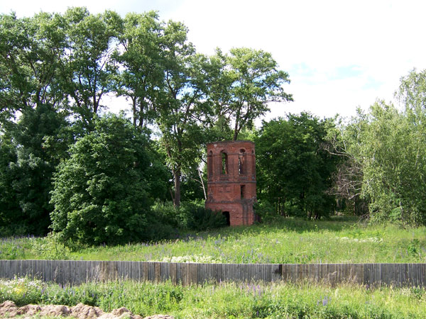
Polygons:
M217 50L215 61L222 72L210 98L219 118L225 116L234 125L234 140L242 128L252 128L253 121L269 111L268 103L293 101L283 89L290 83L288 73L278 69L271 53L246 47L233 48L229 55Z

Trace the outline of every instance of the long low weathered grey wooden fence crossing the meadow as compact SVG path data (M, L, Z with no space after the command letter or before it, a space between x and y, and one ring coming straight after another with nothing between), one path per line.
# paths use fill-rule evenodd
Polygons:
M58 284L131 279L203 284L205 281L325 281L370 286L426 286L426 264L195 264L0 260L0 278L33 276Z

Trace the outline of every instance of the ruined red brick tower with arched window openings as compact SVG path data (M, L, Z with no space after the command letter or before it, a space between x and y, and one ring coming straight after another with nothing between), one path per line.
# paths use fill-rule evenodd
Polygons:
M228 225L252 225L256 220L255 158L250 141L207 144L206 208L222 211Z

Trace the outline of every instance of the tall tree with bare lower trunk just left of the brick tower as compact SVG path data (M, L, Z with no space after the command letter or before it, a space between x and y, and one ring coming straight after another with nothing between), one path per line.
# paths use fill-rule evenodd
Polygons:
M169 21L162 39L163 82L153 108L160 129L160 143L175 182L174 204L180 206L182 173L197 169L201 157L203 128L200 121L206 110L205 67L208 59L195 54L187 41L187 28Z

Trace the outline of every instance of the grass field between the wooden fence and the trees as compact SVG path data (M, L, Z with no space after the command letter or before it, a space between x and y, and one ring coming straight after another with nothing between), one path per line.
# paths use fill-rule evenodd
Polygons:
M250 227L185 233L158 243L82 247L51 237L4 238L0 259L133 260L225 263L426 262L426 228L365 225L354 218L281 218Z

